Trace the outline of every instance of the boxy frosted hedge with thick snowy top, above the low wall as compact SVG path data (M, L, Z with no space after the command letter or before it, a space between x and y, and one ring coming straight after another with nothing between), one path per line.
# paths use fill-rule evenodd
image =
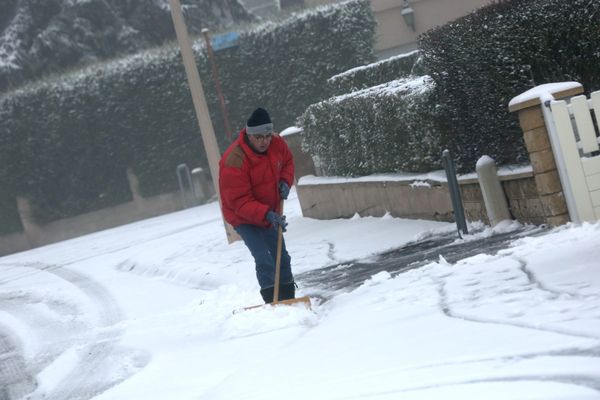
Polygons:
M409 77L313 104L299 118L303 143L326 175L437 169L433 88Z

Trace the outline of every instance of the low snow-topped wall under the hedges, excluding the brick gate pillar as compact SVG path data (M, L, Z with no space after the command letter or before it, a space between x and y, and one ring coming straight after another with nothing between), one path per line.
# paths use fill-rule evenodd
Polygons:
M542 224L544 210L531 172L500 177L511 213L523 223ZM416 184L416 182L419 182ZM489 224L477 179L459 179L461 196L468 221ZM454 211L447 183L418 180L300 180L298 198L305 217L315 219L394 217L436 221L454 221Z

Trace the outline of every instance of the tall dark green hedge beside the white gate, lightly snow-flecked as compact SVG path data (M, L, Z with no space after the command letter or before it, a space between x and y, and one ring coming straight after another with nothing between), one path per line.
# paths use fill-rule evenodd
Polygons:
M526 162L517 116L508 103L549 82L600 89L600 1L511 0L492 4L420 38L423 62L440 99L438 129L472 170L487 154Z

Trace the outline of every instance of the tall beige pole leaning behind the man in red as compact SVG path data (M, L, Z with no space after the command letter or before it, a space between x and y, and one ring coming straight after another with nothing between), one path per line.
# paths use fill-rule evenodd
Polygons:
M210 176L213 180L215 193L217 193L217 196L219 197L219 204L221 204L221 196L219 193L219 145L217 144L215 131L210 120L206 98L204 97L204 89L202 88L202 81L200 81L200 74L198 74L198 67L196 66L192 44L185 26L185 20L183 19L181 4L179 3L179 0L169 0L169 4L171 6L171 17L173 18L173 25L175 26L177 41L181 48L183 66L185 67L185 73L192 93L192 101L194 102L194 108L196 110L196 117L198 118L198 126L200 127L200 133L202 134L206 158L208 159ZM225 225L225 232L229 243L240 239L231 225L226 223L224 219L223 224Z

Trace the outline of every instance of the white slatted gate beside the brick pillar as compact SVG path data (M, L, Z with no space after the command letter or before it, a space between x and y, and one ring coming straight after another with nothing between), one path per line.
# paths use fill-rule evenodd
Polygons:
M600 91L590 99L575 96L570 103L548 103L544 117L571 220L600 220Z

